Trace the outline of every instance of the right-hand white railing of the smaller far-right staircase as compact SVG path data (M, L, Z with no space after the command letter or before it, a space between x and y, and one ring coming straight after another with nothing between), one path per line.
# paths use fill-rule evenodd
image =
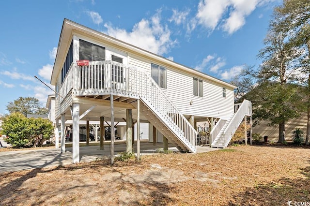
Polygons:
M224 147L227 147L233 133L237 130L240 123L242 122L243 118L248 115L252 115L252 103L248 100L244 100L242 104L240 105L239 109L236 111L236 113L233 115L233 118L228 123L227 127L224 130L225 135L225 145Z

